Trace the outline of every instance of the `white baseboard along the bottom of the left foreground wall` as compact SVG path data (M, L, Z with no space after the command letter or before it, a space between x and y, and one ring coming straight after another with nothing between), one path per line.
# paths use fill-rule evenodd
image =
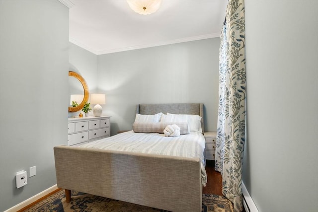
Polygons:
M22 203L19 203L16 206L13 206L12 208L9 208L8 210L4 211L4 212L18 212L21 209L26 208L27 206L35 203L36 201L50 195L51 193L56 192L57 190L60 190L58 188L58 186L55 184L54 186L40 192L39 194L34 195L33 197L30 197L29 199L23 201Z

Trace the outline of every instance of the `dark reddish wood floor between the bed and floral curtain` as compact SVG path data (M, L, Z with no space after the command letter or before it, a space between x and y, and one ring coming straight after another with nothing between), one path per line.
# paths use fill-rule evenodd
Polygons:
M222 195L222 176L214 170L214 160L207 160L205 170L208 176L206 187L203 187L203 194Z

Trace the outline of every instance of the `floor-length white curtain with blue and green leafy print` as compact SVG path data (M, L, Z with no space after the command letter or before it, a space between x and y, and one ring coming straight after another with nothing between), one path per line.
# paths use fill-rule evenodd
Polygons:
M242 162L245 142L244 0L229 0L222 29L219 67L219 111L215 170L223 194L242 211Z

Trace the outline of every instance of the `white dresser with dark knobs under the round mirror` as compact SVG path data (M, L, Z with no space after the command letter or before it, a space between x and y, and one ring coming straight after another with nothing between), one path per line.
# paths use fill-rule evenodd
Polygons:
M109 136L110 116L69 118L69 146L76 146Z

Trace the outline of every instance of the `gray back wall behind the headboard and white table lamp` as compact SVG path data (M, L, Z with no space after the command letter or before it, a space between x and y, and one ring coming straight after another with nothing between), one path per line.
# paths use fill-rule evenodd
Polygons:
M131 130L136 104L202 102L206 131L216 131L220 38L98 56L98 91L111 135Z

